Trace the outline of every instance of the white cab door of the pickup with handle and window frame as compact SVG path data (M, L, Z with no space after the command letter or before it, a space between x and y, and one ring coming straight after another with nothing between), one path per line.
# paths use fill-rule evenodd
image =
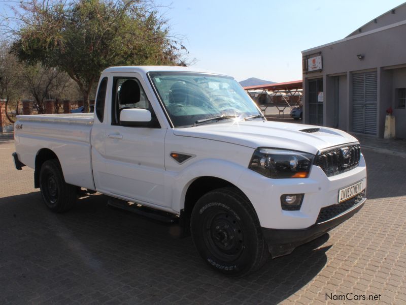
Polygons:
M113 77L112 116L105 133L106 173L100 184L105 192L117 197L151 206L165 206L166 129L161 128L140 79L134 77L134 73L120 73ZM138 89L131 86L139 86L139 95ZM152 120L140 126L121 126L119 115L124 108L148 109Z

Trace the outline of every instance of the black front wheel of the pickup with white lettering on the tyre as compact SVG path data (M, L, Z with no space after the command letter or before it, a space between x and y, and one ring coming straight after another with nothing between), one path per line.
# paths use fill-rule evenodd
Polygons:
M190 226L201 257L227 276L245 276L269 257L254 209L236 188L202 196L193 208Z

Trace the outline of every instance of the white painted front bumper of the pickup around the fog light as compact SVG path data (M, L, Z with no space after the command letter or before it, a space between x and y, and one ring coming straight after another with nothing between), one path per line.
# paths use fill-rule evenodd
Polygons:
M366 187L366 165L361 156L358 167L331 177L327 177L318 166L312 167L308 178L295 179L270 179L247 170L243 172L238 186L254 206L261 227L304 230L320 222L318 217L322 208L336 206L340 189L363 179ZM283 194L304 194L300 210L283 210ZM339 214L341 212L336 215Z

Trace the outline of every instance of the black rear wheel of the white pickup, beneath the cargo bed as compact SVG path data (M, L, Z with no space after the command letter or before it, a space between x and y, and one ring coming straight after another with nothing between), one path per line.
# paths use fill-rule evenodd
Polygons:
M45 205L53 212L70 210L76 202L77 187L65 182L56 159L45 161L41 166L40 189Z

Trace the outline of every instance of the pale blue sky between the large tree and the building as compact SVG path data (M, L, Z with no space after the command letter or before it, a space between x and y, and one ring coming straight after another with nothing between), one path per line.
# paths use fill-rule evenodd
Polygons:
M340 40L396 0L156 0L195 67L241 81L299 80L301 51Z

